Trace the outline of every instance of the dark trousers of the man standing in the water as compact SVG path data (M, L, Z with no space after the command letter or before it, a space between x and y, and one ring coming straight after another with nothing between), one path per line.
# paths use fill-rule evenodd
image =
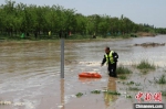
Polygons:
M117 75L116 75L116 65L117 65L117 63L108 64L107 69L108 69L110 77L117 77Z

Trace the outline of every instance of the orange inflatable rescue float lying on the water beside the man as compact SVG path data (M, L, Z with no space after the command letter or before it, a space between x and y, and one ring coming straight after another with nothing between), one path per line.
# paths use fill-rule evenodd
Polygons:
M101 78L102 76L98 73L80 73L79 77L87 77L87 78Z

